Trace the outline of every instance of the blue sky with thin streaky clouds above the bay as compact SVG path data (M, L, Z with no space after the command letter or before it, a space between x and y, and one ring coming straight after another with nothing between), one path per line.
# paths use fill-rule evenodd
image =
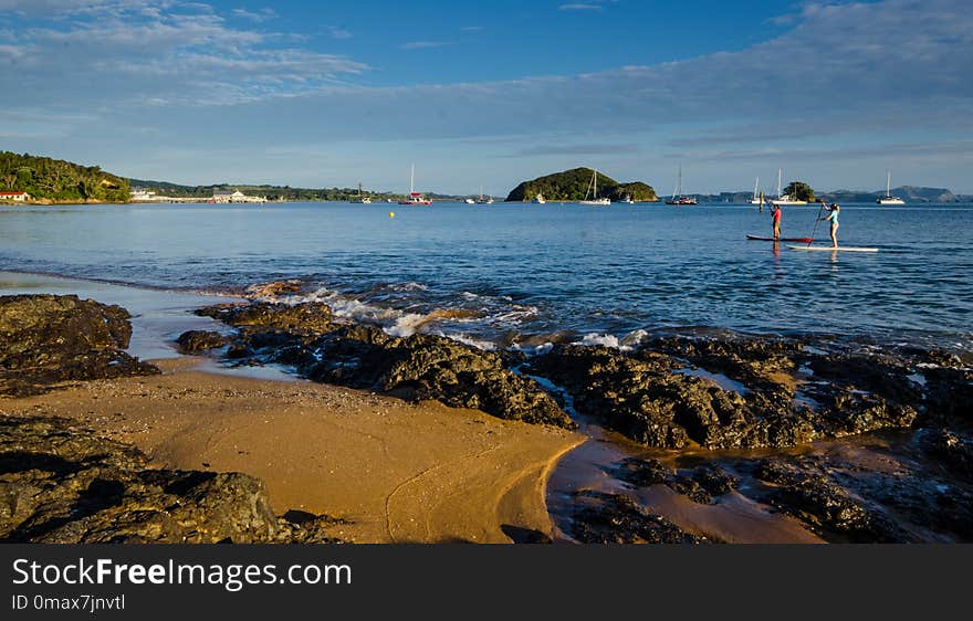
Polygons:
M0 0L0 149L184 183L973 193L970 9Z

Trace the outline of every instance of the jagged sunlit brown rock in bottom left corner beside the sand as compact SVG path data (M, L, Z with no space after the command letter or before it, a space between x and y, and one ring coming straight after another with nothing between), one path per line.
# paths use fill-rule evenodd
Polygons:
M238 473L155 470L137 449L63 419L0 417L0 540L326 543L324 516L274 516Z

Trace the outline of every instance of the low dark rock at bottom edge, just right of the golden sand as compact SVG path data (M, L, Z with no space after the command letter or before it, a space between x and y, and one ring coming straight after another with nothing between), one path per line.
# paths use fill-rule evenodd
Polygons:
M572 515L572 536L583 544L704 544L662 516L642 509L621 494L578 492L575 499L587 506Z

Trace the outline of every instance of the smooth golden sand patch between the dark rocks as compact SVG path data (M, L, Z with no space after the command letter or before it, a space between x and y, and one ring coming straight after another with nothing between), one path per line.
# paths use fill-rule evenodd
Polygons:
M161 376L0 398L7 414L63 415L130 442L159 466L262 478L276 513L348 520L356 543L509 543L554 526L545 485L584 438L478 411L304 381L157 361Z

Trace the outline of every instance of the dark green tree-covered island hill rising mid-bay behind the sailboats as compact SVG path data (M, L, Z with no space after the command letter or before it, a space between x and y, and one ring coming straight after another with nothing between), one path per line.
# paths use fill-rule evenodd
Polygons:
M524 181L506 197L508 202L530 201L540 193L550 201L578 201L584 200L588 186L592 183L594 170L590 168L574 168L564 172L555 172L546 177L538 177L533 181ZM655 202L659 200L656 190L648 183L634 181L619 183L610 177L598 173L598 196L607 197L613 201L620 201L631 197L635 201Z

